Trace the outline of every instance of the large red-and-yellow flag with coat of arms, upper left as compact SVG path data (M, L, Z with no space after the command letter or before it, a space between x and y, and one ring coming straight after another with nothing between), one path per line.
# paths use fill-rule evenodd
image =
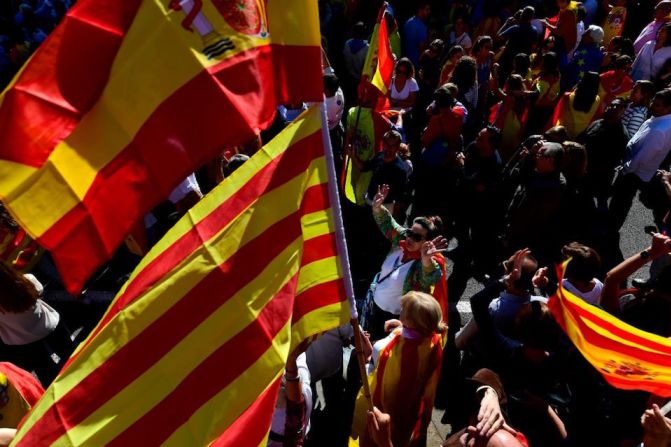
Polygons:
M0 199L76 292L188 174L321 95L313 0L80 0L0 96Z

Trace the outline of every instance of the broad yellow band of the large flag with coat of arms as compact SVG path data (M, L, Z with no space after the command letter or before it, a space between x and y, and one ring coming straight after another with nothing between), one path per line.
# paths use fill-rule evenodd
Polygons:
M213 60L202 53L204 44L200 35L182 28L183 12L168 10L166 2L143 2L119 49L100 100L54 149L48 166L34 179L30 194L12 200L15 213L27 216L23 220L29 224L31 235L41 236L74 208L86 195L98 171L132 141L156 107L203 69L271 42L319 45L317 8L314 2L300 2L301 5L292 8L270 2L273 5L268 11L273 30L270 39L235 33L211 2L203 2L203 14L215 29L221 30L219 34L236 45L235 50ZM0 181L1 195L12 195L8 186ZM54 197L59 197L58 203L54 203ZM40 210L39 216L35 215L35 209Z

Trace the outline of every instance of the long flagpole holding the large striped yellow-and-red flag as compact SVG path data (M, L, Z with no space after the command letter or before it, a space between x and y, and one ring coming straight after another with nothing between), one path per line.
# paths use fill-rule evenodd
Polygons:
M359 327L359 314L356 310L356 301L354 299L354 285L352 283L352 273L349 265L349 254L347 252L347 242L345 239L345 226L342 220L340 210L340 195L338 193L338 179L335 172L335 161L333 157L333 148L331 147L331 136L329 135L328 121L326 119L326 102L320 104L322 115L322 140L324 143L324 157L326 159L326 169L329 175L329 200L333 210L333 222L335 224L336 247L338 257L340 258L340 267L343 271L343 281L345 282L345 293L349 301L350 323L354 330L354 346L356 348L357 359L359 363L359 373L361 374L361 383L363 385L363 394L368 402L368 409L373 410L373 399L370 395L370 386L368 384L368 375L366 374L366 359L363 355L363 334Z

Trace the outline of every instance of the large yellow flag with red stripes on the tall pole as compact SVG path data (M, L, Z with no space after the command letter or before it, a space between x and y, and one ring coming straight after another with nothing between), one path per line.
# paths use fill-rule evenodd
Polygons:
M264 443L290 349L350 317L328 182L313 106L152 248L13 445Z

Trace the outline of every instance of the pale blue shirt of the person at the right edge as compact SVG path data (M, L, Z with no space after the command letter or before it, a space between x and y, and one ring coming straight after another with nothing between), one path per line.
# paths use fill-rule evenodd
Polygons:
M650 118L627 144L623 174L636 174L649 182L671 150L671 114Z

